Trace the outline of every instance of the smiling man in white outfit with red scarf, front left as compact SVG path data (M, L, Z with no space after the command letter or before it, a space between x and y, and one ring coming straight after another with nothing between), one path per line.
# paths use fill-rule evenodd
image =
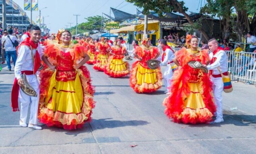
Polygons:
M30 28L30 37L23 40L18 46L18 58L14 68L15 81L11 91L12 111L19 111L18 101L21 103L20 126L34 129L42 129L37 125L37 110L39 102L39 83L36 79L36 71L41 66L40 57L43 53L39 45L41 30L38 26ZM36 96L29 96L22 91L20 86L25 86L22 76L26 74L28 84L36 92ZM25 85L24 85L25 84ZM29 124L26 124L30 104Z

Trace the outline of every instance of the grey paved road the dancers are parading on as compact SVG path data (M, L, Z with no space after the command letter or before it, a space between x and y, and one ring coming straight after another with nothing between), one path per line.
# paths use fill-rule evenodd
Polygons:
M129 79L113 79L92 66L97 101L93 121L83 129L32 130L19 127L19 112L11 112L13 71L0 72L0 153L255 153L256 88L233 83L224 93L221 124L177 124L163 113L164 87L155 94L136 94ZM237 107L238 110L230 110ZM136 145L135 147L130 147Z

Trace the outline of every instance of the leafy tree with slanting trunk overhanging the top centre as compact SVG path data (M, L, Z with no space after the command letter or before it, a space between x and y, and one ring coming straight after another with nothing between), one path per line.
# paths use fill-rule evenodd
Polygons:
M144 8L143 12L145 14L149 14L150 10L156 11L159 16L162 16L163 12L179 12L185 16L188 23L190 25L194 25L194 21L189 17L189 15L186 13L188 10L187 7L184 6L183 1L178 0L126 0L127 2L134 3L134 5ZM205 30L202 29L202 27L199 27L198 29L205 39L209 40L210 37L205 32Z

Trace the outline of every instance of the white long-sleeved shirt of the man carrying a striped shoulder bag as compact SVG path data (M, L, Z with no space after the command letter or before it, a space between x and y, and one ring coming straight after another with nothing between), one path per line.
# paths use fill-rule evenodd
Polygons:
M222 73L228 71L228 56L224 50L217 52L214 56L212 52L209 54L209 57L210 59L216 58L214 63L207 66L208 70L213 70L212 74L220 74L217 67L220 67Z

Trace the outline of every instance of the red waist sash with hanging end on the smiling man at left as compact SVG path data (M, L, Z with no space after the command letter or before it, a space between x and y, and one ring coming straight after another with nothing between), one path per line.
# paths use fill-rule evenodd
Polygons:
M34 74L32 70L23 70L23 71L21 71L21 74L23 74L23 73L25 73L26 75ZM12 107L13 112L20 111L19 103L18 103L19 89L20 89L20 86L18 85L18 80L17 80L17 78L15 78L13 87L11 90L11 107Z

